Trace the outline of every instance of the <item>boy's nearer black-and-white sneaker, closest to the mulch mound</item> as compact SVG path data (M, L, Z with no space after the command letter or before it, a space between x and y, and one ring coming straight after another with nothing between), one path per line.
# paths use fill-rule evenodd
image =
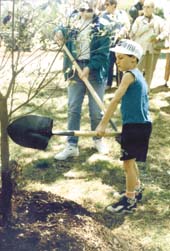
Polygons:
M111 213L131 213L136 209L136 199L123 196L119 202L109 205L106 210Z

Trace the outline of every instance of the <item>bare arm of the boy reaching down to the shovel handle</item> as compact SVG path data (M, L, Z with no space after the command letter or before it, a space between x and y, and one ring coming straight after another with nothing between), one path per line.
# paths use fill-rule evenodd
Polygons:
M114 95L113 99L111 100L106 112L104 113L104 116L103 116L101 122L99 123L99 125L96 128L96 131L98 132L99 136L102 136L104 134L106 126L107 126L111 116L115 112L117 105L119 104L121 98L126 93L128 87L134 82L134 80L135 80L135 77L130 72L127 72L124 74L122 81L119 85L119 88L115 92L115 95Z

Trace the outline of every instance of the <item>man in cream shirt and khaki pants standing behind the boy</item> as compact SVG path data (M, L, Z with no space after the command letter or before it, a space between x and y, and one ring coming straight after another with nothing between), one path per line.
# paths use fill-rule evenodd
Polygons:
M130 37L138 42L143 50L144 56L138 65L150 89L153 73L161 52L161 44L167 36L165 20L154 14L154 1L144 1L144 15L138 17L132 25Z

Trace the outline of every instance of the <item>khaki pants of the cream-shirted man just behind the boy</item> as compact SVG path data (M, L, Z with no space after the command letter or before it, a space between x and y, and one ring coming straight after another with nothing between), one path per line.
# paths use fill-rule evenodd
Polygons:
M160 51L159 53L146 52L146 54L142 57L141 62L138 64L139 70L144 72L145 74L145 79L146 79L149 89L150 89L150 85L152 82L153 74L156 68L159 55L160 55Z

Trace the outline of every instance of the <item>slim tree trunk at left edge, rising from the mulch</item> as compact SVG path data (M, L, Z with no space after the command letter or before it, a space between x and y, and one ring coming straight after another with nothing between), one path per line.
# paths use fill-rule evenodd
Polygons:
M12 180L11 168L9 165L9 144L8 144L8 109L7 100L4 97L0 98L0 121L1 121L1 201L0 210L2 213L3 222L6 223L12 215Z

